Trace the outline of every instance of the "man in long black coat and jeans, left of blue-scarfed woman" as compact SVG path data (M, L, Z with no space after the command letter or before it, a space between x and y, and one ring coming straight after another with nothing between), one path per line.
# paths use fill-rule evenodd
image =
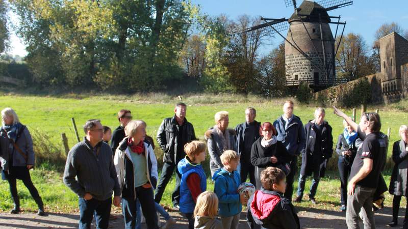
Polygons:
M315 119L304 125L306 131L306 147L302 152L302 166L300 168L299 185L295 202L302 200L306 178L313 173L309 199L313 204L316 204L315 195L320 177L324 177L324 168L327 164L327 160L333 154L331 126L324 121L324 116L324 109L319 107L315 110Z

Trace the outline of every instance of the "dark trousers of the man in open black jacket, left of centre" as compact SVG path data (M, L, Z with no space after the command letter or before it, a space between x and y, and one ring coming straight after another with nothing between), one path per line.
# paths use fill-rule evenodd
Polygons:
M173 206L179 205L180 183L181 183L182 175L179 173L179 170L177 169L176 164L168 163L168 162L164 162L163 164L162 175L160 176L160 181L156 188L155 202L158 204L160 204L160 201L162 200L162 196L163 196L164 190L166 189L167 183L169 183L171 176L173 176L174 169L175 169L176 176L175 176L175 187L174 187L173 193L171 194L171 202L173 203Z

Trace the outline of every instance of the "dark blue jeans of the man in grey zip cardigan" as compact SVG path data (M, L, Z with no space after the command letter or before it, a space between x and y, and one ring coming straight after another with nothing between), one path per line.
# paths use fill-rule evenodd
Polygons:
M109 215L111 214L112 198L99 201L95 198L86 201L79 198L80 222L79 229L91 228L91 222L95 213L96 228L106 229L109 226Z

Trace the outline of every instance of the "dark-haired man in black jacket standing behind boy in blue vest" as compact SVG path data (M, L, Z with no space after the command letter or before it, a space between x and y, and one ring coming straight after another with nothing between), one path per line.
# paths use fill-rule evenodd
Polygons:
M156 188L155 201L160 203L167 183L173 175L177 163L186 157L184 145L192 140L196 140L194 127L186 119L187 105L177 103L174 108L174 117L164 119L157 131L157 142L164 152L163 169L159 184ZM176 183L171 195L173 206L178 208L180 201L181 174L176 170Z

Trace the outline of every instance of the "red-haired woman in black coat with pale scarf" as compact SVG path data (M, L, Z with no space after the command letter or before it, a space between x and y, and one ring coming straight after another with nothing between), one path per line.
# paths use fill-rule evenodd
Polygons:
M251 163L255 166L257 189L261 189L261 172L269 167L281 168L289 174L291 156L281 141L276 140L276 129L269 123L263 123L259 130L260 138L253 142L251 148Z

